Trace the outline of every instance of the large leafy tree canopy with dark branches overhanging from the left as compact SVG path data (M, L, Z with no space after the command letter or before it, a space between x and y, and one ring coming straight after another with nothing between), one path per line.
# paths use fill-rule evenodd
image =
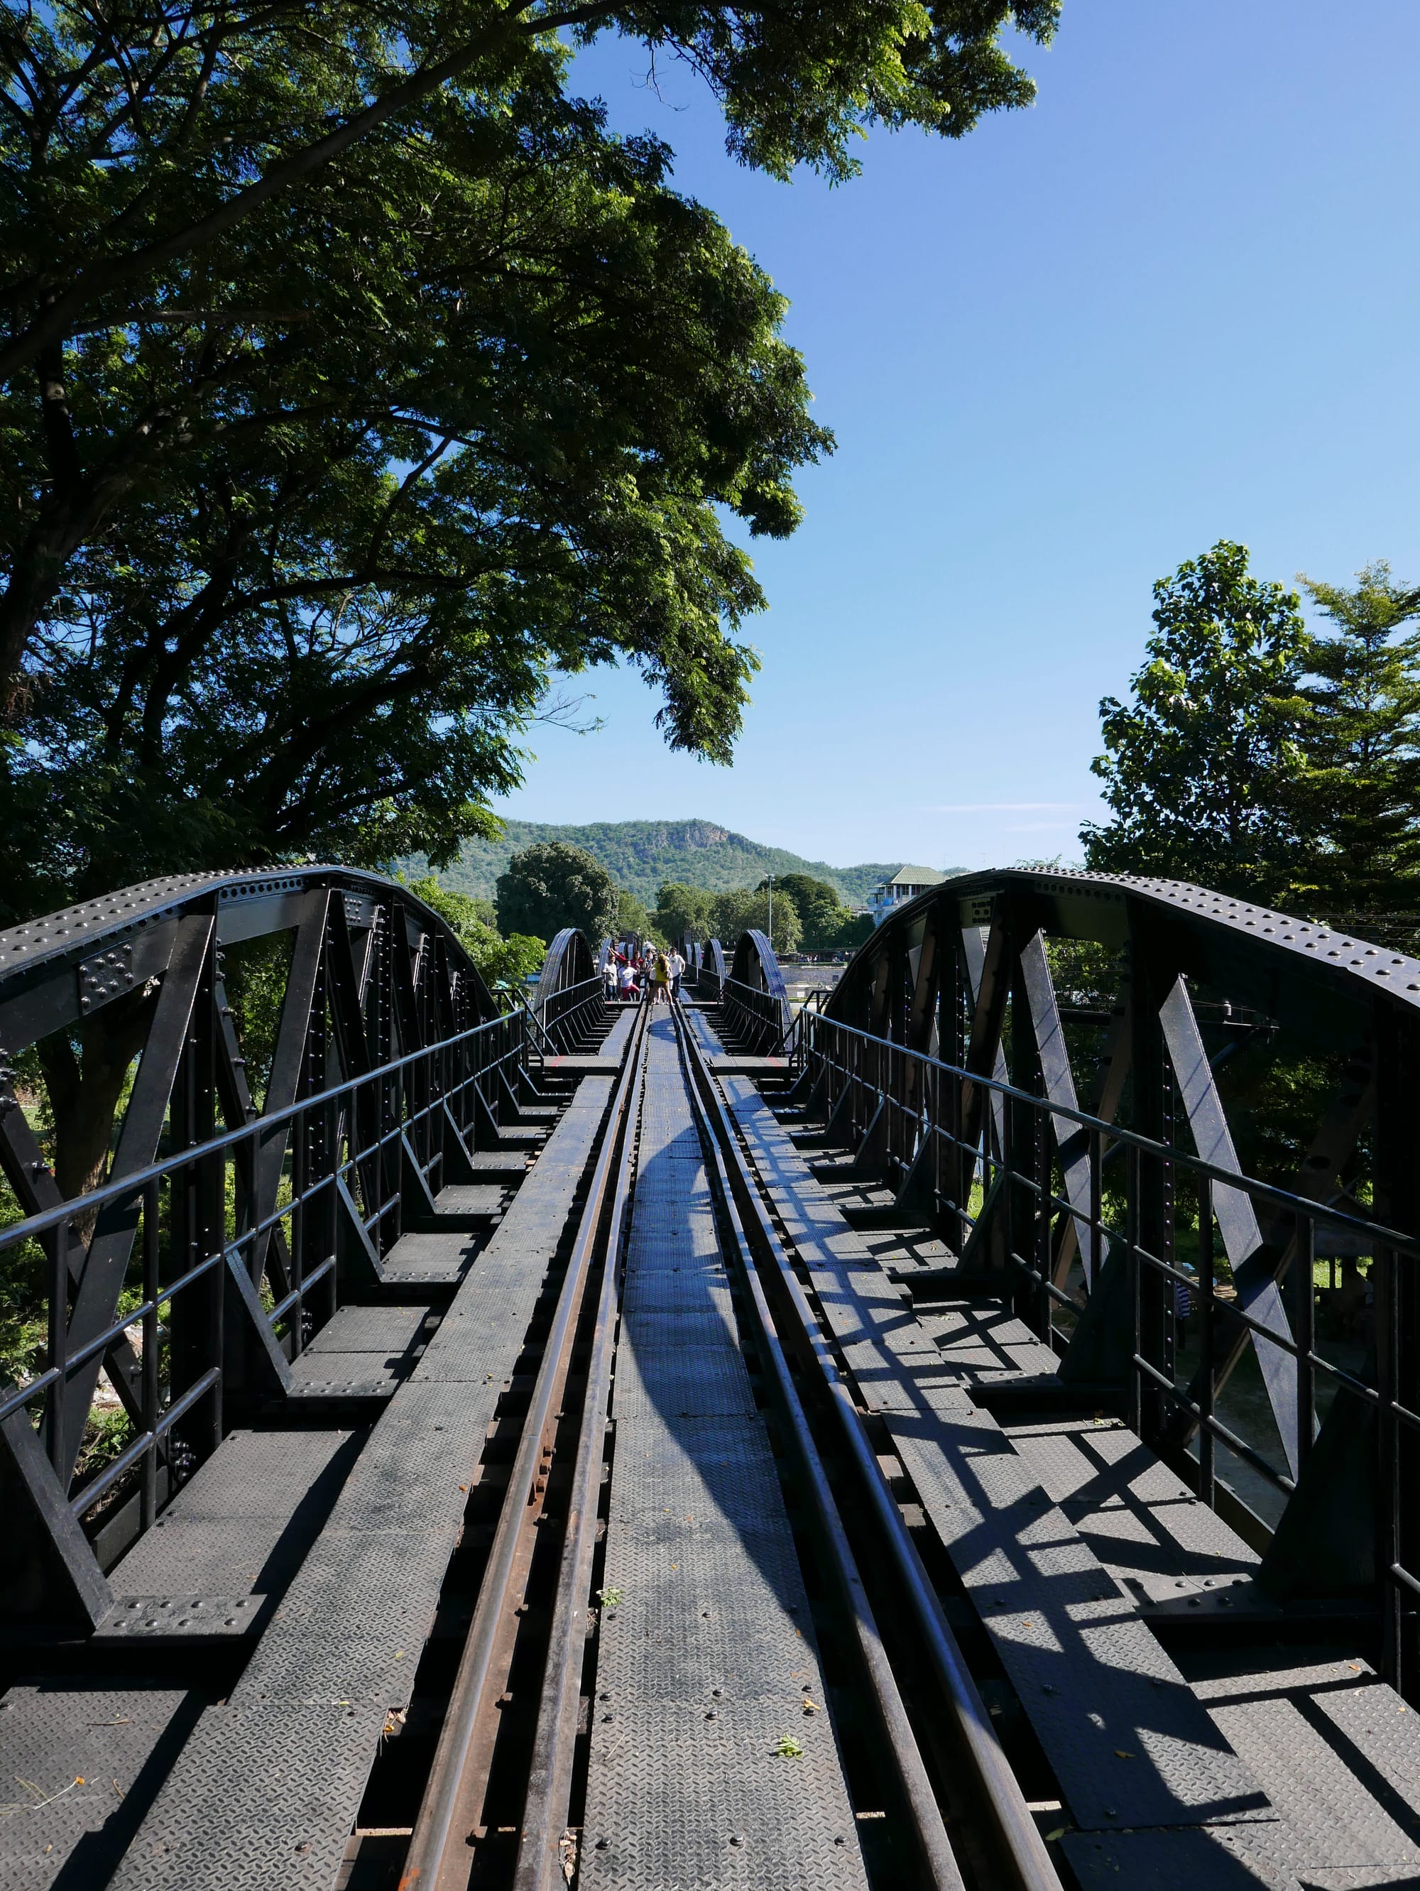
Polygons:
M736 153L855 168L1030 83L1055 4L0 0L0 881L450 859L550 679L724 762L809 420L783 301L571 42L686 57ZM19 872L17 872L19 870Z

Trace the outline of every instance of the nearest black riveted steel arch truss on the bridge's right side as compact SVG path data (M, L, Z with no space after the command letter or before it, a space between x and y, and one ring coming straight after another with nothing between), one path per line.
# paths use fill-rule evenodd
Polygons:
M798 1014L790 1072L955 1250L934 1290L1051 1346L1030 1396L1125 1416L1276 1600L1365 1598L1420 1694L1420 963L1176 881L964 876Z

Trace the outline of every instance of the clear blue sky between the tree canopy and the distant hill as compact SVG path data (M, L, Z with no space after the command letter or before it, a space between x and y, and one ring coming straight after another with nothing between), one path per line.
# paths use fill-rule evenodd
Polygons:
M734 165L639 47L579 61L788 295L838 454L754 548L736 766L667 755L639 679L594 671L603 730L537 728L503 813L1072 860L1155 577L1231 537L1263 577L1420 579L1420 4L1066 0L1025 62L1032 110L877 134L830 191Z

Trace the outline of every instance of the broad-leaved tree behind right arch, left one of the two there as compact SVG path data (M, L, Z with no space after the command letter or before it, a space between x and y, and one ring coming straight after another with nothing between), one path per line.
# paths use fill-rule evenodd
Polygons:
M1112 819L1080 838L1097 872L1163 874L1274 898L1297 845L1291 785L1307 703L1299 598L1220 541L1153 586L1133 702L1100 703Z

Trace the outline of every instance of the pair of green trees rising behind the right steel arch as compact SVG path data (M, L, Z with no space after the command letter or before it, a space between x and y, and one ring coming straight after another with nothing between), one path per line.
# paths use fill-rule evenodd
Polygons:
M1327 915L1420 913L1420 586L1255 579L1221 541L1153 586L1131 700L1100 703L1102 872ZM1359 927L1358 927L1359 930Z

